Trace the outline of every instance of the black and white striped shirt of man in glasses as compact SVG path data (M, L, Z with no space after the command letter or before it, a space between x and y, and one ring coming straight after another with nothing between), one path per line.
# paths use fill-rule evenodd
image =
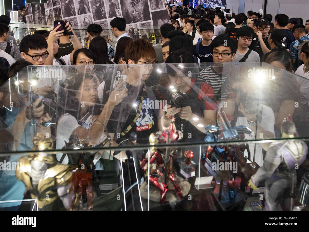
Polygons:
M227 74L217 73L212 66L209 66L198 74L197 80L203 80L209 84L214 90L215 98L221 101L228 95L226 90L224 93L221 93L222 85L226 81L227 76Z

